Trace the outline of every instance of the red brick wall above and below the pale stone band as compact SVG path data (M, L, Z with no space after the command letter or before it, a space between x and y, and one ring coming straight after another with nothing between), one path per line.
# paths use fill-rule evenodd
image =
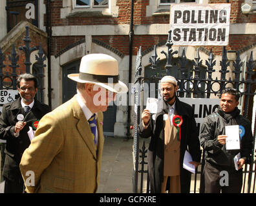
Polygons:
M226 0L209 0L209 3L226 3ZM231 3L231 24L232 23L255 23L256 14L244 15L241 13L240 7L244 0L229 0ZM52 2L52 26L65 25L98 25L98 24L129 24L131 17L131 1L117 0L116 6L119 6L118 17L72 17L60 19L60 9L62 8L62 0ZM169 15L159 15L146 17L146 6L149 0L134 1L134 25L140 24L169 24ZM54 37L52 38L52 54L56 55L69 44L79 41L81 36L74 37ZM129 55L129 35L116 36L94 36L94 39L104 42L112 46L123 55ZM142 46L142 51L147 50L161 41L167 40L166 35L138 35L134 36L133 55L136 55L138 48ZM241 41L242 40L242 41ZM229 45L227 50L241 50L245 46L249 46L255 42L255 35L229 35ZM213 53L222 53L222 46L206 46L206 49L213 49Z

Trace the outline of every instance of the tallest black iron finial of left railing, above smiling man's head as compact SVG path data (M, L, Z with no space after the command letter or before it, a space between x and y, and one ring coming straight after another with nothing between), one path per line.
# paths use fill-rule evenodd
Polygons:
M26 36L24 37L23 41L25 41L25 46L20 46L19 50L23 50L23 52L25 53L25 57L26 57L26 61L24 62L24 64L26 65L26 73L30 73L30 66L31 66L31 62L30 62L30 54L34 51L37 50L36 46L30 48L30 42L31 39L28 35L28 26L26 26Z

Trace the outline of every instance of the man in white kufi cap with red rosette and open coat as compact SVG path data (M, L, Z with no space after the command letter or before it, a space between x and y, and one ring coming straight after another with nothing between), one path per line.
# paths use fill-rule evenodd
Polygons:
M193 161L200 164L200 143L194 111L189 104L176 97L178 82L175 77L165 76L160 80L162 99L156 114L144 109L139 135L149 138L149 179L153 193L180 193L190 191L191 173L183 168L185 151Z

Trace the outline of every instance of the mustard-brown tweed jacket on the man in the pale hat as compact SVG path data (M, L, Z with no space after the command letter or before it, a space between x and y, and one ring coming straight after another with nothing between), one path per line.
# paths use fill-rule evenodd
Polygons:
M103 151L103 113L98 113L98 147L76 95L41 119L21 158L26 192L96 192ZM34 184L26 173L34 173ZM33 174L32 173L32 174Z

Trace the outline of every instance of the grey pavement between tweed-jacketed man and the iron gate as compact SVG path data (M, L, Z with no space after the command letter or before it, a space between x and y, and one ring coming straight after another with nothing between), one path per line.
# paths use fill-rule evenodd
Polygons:
M105 136L97 193L133 193L133 139Z

